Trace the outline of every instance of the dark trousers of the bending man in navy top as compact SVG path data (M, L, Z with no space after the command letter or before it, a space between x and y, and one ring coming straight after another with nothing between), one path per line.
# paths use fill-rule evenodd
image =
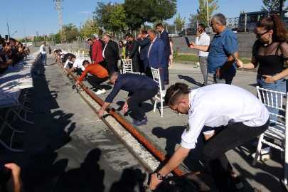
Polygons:
M158 93L158 86L153 90L139 90L134 92L133 95L127 100L129 110L132 111L134 117L139 121L144 120L145 112L142 107L142 102L150 100Z

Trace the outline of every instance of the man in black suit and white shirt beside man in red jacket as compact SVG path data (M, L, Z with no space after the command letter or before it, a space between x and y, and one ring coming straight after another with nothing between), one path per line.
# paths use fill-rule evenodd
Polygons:
M102 55L107 65L108 73L111 74L115 71L115 65L119 58L119 50L117 46L114 45L115 42L110 40L109 34L104 34L103 40L105 42L105 47Z

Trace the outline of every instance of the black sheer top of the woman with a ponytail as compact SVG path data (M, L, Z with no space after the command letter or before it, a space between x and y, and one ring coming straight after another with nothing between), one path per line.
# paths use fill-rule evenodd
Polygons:
M275 75L281 73L285 60L288 60L288 43L272 42L267 46L257 40L252 47L252 55L259 63L258 74Z

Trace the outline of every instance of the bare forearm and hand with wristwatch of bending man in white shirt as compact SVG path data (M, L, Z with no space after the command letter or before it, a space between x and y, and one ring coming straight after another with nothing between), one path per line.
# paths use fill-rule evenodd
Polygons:
M159 171L159 174L162 176L166 176L169 174L173 169L175 169L178 165L180 165L183 160L188 156L190 149L186 149L183 146L179 146L177 151L173 154L171 159L169 159L168 163ZM157 177L157 174L151 175L151 181L149 184L149 187L154 190L159 186L159 184L162 182L162 180L159 180Z

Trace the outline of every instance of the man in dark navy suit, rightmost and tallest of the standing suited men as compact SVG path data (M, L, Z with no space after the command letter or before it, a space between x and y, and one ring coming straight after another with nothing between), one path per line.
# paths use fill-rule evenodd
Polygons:
M170 42L169 42L169 36L168 33L164 30L161 23L157 24L157 31L161 33L161 40L164 42L164 53L165 53L165 62L166 62L166 68L164 68L164 84L169 85L169 56L171 55L171 48L170 48Z

